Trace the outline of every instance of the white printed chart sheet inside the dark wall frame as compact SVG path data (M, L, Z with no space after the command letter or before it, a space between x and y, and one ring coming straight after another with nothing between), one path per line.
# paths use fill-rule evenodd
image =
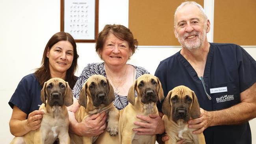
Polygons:
M95 39L95 1L66 0L64 30L74 39Z

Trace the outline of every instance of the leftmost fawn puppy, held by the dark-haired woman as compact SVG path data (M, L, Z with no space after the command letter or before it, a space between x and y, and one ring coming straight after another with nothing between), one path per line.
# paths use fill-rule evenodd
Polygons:
M13 138L11 144L52 144L57 138L59 144L70 144L67 107L73 103L73 94L68 82L60 78L46 81L41 90L41 101L43 104L39 110L45 114L40 128Z

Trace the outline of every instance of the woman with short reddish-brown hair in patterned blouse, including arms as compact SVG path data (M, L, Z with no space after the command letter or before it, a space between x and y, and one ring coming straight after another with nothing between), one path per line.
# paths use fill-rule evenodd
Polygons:
M134 54L137 44L138 42L134 39L132 32L125 26L115 24L106 25L98 34L96 40L96 52L104 62L91 63L85 66L73 89L75 98L78 99L83 84L90 76L100 74L108 78L113 86L115 91L115 107L119 110L123 109L128 104L128 90L134 80L143 74L149 74L147 70L140 66L126 64L128 59ZM79 104L77 100L74 100L74 104L69 107L69 131L81 136L95 136L103 133L106 127L106 114L94 114L89 116L85 121L78 123L74 116L78 107ZM159 122L163 124L161 118L155 115L152 117L153 118L146 116L140 117L142 119L146 118L146 121L150 121L148 122L150 124L147 128L137 129L137 131L141 132L138 134L150 135L151 133L163 133L164 129L161 132L157 129ZM138 125L140 124L141 123ZM144 124L146 123L143 123L143 125ZM150 133L145 131L146 129L149 130Z

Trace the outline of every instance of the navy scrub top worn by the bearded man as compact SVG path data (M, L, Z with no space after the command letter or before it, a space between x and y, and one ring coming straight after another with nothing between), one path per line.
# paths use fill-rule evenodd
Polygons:
M236 44L210 43L202 81L189 62L177 52L160 62L155 76L164 95L174 87L185 85L195 92L199 105L206 111L217 111L240 103L240 93L256 82L256 61ZM210 89L227 87L227 92L210 93ZM161 111L162 103L158 103ZM206 144L251 144L249 122L239 125L212 126L204 130Z

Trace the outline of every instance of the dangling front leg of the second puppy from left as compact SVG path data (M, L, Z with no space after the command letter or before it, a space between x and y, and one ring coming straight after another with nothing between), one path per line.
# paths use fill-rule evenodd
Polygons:
M118 134L118 120L119 120L119 111L113 106L109 110L108 118L108 127L107 131L109 135L116 136Z

